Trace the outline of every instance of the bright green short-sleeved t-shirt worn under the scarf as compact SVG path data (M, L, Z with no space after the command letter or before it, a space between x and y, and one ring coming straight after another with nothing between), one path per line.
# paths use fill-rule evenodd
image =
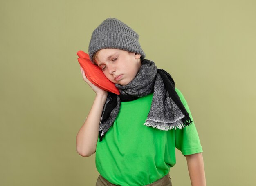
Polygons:
M191 120L189 126L162 131L143 125L153 93L121 102L119 113L97 142L96 168L109 182L121 186L144 186L167 175L176 163L175 147L183 155L202 152L195 121L182 93L175 88Z

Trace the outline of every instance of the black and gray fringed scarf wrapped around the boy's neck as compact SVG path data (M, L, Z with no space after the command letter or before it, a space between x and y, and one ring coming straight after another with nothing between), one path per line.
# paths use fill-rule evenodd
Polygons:
M127 85L115 84L120 95L108 92L99 125L100 141L115 121L120 102L136 100L153 92L153 99L145 126L159 130L171 130L190 125L190 119L180 97L175 91L175 82L163 69L157 69L153 61L143 59L135 78Z

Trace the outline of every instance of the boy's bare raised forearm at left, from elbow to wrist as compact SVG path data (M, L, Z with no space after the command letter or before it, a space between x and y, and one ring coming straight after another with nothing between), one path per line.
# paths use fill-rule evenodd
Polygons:
M95 153L99 137L99 123L107 94L96 95L92 108L76 136L76 151L83 157Z

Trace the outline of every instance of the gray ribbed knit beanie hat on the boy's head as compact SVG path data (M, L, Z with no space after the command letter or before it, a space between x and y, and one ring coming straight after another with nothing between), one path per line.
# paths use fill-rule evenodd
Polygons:
M139 44L139 35L128 25L116 18L107 18L93 32L89 43L89 56L93 64L97 65L92 57L100 49L114 48L141 54L146 54Z

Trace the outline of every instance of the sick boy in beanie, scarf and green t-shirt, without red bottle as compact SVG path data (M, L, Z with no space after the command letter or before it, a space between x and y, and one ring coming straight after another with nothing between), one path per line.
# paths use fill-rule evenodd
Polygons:
M171 76L145 59L139 35L116 18L92 33L92 63L119 89L96 93L76 138L77 152L96 152L96 186L171 186L175 148L186 157L192 186L205 186L202 146L188 104ZM174 91L175 90L175 91Z

